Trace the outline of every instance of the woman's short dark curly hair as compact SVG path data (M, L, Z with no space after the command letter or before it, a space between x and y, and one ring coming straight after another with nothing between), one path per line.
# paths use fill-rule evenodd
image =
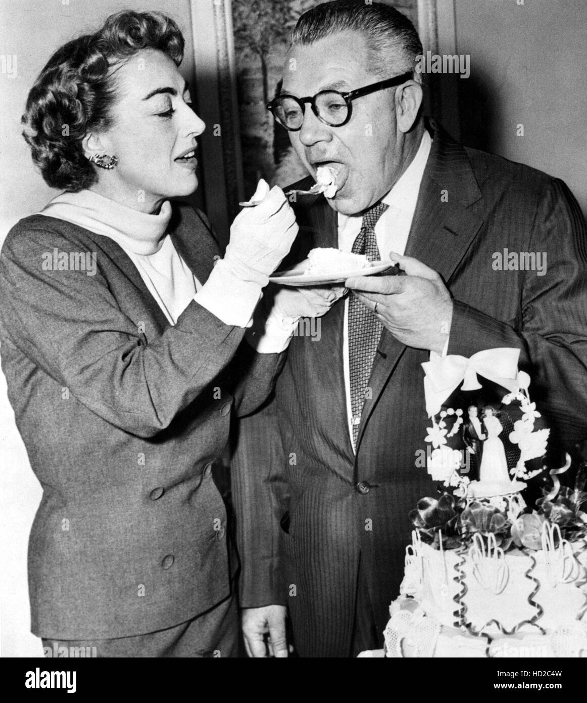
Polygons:
M123 11L110 15L94 34L55 51L29 92L22 115L22 136L48 186L77 193L97 180L82 140L88 131L112 124L113 69L140 49L157 49L180 65L183 46L178 26L166 15Z

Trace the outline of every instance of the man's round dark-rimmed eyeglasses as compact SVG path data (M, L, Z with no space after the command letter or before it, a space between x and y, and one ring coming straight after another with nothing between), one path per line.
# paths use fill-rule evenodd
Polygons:
M355 98L360 98L385 88L391 88L392 86L398 86L411 79L411 77L412 72L409 71L402 73L400 76L371 83L369 86L357 88L357 90L352 90L348 93L341 93L337 90L323 90L316 93L315 96L308 96L307 98L296 98L296 96L289 95L289 93L282 93L282 95L277 96L277 98L268 103L267 108L271 110L275 120L285 129L289 129L289 131L301 129L304 120L305 103L312 105L312 112L324 124L328 124L330 127L342 127L343 124L350 120L352 101Z

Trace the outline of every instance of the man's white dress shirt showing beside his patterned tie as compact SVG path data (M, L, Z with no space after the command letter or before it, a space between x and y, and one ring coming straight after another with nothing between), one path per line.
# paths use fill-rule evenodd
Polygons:
M426 161L430 154L432 138L428 131L424 131L420 147L410 165L395 183L381 202L388 205L388 209L381 215L375 225L375 236L381 259L389 258L389 252L403 255L406 249L411 221L416 211L416 201ZM361 230L362 215L343 215L338 213L338 248L343 252L350 252L355 239ZM345 378L345 394L347 404L348 432L353 449L355 442L352 439L352 411L350 404L350 368L348 358L348 297L345 299L345 321L343 331L343 368Z

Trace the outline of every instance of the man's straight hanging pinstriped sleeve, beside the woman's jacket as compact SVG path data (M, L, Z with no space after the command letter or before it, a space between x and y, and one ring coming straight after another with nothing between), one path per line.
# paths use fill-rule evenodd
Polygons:
M238 423L232 456L232 498L241 560L241 607L287 605L281 526L287 503L286 456L275 399Z

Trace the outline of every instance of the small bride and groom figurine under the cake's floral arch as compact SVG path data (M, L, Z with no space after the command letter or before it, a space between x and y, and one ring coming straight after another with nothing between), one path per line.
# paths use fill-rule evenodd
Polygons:
M469 406L467 412L468 420L463 423L461 433L477 465L480 482L508 486L511 482L506 450L499 439L503 425L494 408L492 406L482 408L481 418L476 405Z

